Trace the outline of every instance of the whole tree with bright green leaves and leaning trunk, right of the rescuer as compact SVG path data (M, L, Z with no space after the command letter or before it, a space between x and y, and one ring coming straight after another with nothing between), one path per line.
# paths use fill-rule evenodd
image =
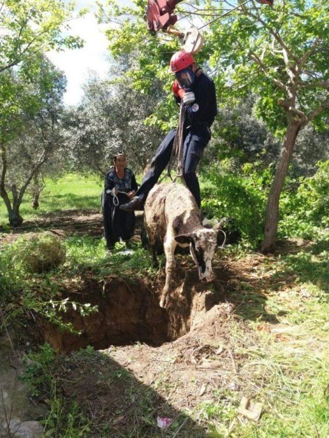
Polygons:
M257 91L259 116L284 137L267 203L261 248L266 252L275 244L280 194L297 136L309 123L323 128L328 114L329 11L317 0L277 1L272 9L251 3L214 22L211 41L221 47L223 73L231 69L229 89L244 83L237 92Z

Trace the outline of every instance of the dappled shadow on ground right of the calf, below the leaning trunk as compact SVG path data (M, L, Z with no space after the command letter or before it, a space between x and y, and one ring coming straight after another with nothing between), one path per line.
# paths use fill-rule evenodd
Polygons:
M258 271L253 271L252 265L246 266L239 261L228 263L224 272L218 270L224 299L234 303L235 313L244 320L280 322L278 317L287 312L270 313L266 310L267 294L270 292L280 293L281 289L309 283L329 293L329 239L324 238L313 245L308 242L302 248L299 242L287 242L287 245L290 254L284 252L280 259L271 261L273 270L270 269L267 274L255 275Z

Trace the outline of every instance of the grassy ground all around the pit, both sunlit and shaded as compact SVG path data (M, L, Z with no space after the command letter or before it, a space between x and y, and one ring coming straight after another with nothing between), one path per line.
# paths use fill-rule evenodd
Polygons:
M195 351L189 349L181 357L184 338L157 349L137 344L96 352L87 347L56 357L45 346L30 353L34 362L26 379L34 397L48 399L49 436L326 438L329 236L299 243L287 241L273 256L243 247L217 256L215 264L230 272L223 284L234 311L223 319L218 336L206 341L198 334L198 345L208 353L197 360L191 362ZM64 264L38 275L24 268L26 243L5 248L1 285L7 290L8 322L10 314L17 316L17 304L23 306L20 315L41 309L51 318L49 300L56 301L67 278L79 287L83 273L99 280L157 275L139 245L133 256L119 254L119 248L109 256L101 239L83 235L67 236L65 246ZM44 307L38 308L40 302ZM243 396L262 403L258 423L238 414ZM167 430L156 426L159 406L159 413L174 418Z

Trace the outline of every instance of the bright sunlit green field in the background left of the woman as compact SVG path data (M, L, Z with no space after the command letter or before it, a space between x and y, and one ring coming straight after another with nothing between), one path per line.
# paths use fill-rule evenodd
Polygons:
M57 181L46 179L40 195L38 210L31 207L31 196L26 194L20 208L25 220L43 217L64 210L99 210L103 181L96 175L67 174ZM7 210L0 201L0 224L8 222Z

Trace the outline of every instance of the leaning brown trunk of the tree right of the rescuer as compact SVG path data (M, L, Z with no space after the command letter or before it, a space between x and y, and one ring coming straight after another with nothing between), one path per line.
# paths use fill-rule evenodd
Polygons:
M278 222L279 222L279 200L285 177L287 175L291 156L296 143L296 138L301 124L290 122L287 127L287 134L283 143L282 153L277 165L276 174L273 179L266 207L266 221L264 240L261 251L267 253L273 249L276 243Z

